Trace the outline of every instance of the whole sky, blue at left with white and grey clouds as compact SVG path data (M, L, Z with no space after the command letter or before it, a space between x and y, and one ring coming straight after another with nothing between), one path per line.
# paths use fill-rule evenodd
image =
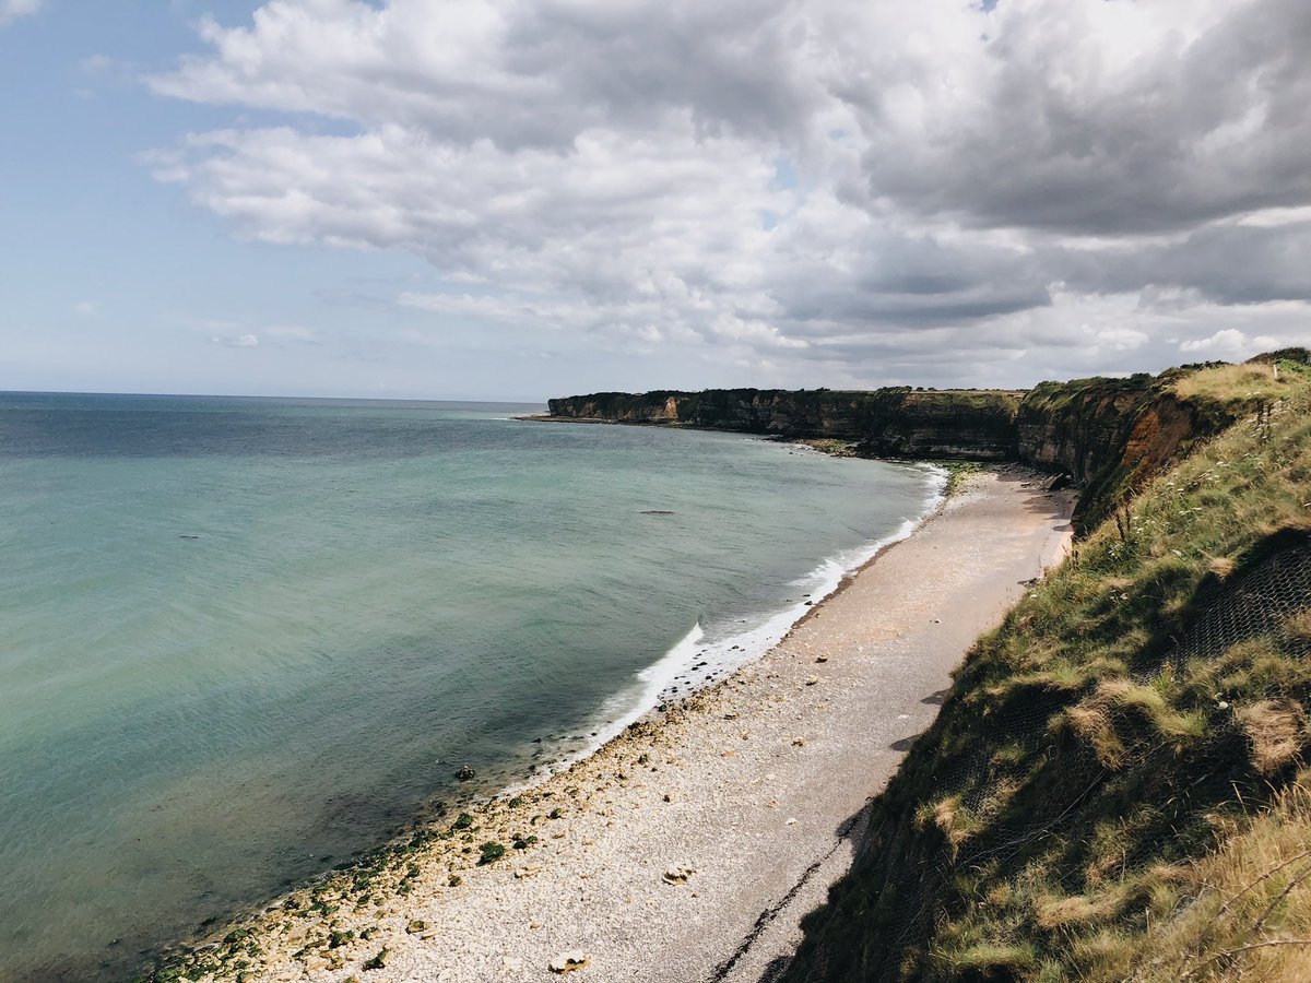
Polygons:
M0 389L1027 387L1311 339L1306 0L0 0Z

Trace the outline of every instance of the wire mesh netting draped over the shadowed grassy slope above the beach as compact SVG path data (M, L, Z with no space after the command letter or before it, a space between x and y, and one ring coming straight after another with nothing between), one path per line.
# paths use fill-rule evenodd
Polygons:
M1262 537L1224 574L1122 672L1002 678L975 653L787 979L1059 978L1096 958L1084 936L1145 929L1162 872L1268 802L1304 743L1311 537Z

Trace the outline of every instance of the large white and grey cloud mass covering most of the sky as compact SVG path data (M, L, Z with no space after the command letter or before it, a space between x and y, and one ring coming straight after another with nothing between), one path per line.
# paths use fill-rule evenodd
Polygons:
M986 7L270 0L149 84L273 122L149 165L243 239L423 257L446 290L396 303L442 324L762 375L1032 381L1285 337L1311 7Z

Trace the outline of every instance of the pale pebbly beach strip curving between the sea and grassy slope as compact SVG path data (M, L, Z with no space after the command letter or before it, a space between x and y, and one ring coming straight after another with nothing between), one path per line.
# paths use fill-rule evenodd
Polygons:
M207 978L548 980L572 953L578 980L767 979L950 670L1063 557L1070 507L1028 472L971 476L763 659L385 869L295 893Z

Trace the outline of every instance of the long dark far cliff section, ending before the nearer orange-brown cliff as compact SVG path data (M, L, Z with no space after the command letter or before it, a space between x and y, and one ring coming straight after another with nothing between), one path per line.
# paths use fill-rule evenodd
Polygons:
M855 440L863 453L1013 460L1015 392L708 389L551 400L551 415Z

